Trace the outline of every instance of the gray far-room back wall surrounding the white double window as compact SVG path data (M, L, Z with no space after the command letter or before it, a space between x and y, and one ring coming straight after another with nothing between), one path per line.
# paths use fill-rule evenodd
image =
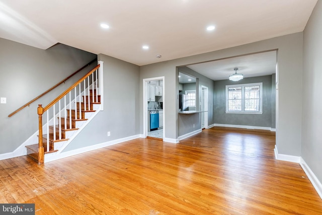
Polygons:
M226 85L234 85L234 84L239 85L239 84L251 84L251 83L263 83L263 114L226 113ZM273 99L275 101L275 97ZM271 127L272 126L272 76L245 78L243 80L238 81L237 83L229 80L215 81L214 121L216 124Z

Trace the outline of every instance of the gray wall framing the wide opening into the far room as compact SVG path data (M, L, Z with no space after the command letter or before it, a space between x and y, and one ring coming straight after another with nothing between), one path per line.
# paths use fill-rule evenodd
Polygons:
M141 66L139 92L140 133L143 133L143 79L165 76L165 135L167 138L177 138L178 66L259 51L278 50L277 82L279 87L277 91L278 100L276 101L278 104L278 109L276 110L276 147L280 154L300 156L302 114L302 36L303 33L300 32L204 54ZM292 77L291 80L289 75Z

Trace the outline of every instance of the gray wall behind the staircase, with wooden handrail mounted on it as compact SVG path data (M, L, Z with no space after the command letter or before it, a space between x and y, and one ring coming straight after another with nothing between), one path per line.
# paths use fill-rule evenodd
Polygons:
M0 38L0 97L7 98L7 104L0 104L0 154L13 152L38 130L38 104L49 104L91 68L14 116L8 115L96 57L63 44L42 50Z

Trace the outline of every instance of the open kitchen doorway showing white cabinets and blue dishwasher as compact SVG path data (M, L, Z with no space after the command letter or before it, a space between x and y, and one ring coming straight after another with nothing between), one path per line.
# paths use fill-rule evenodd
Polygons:
M143 137L165 137L164 79L143 79Z

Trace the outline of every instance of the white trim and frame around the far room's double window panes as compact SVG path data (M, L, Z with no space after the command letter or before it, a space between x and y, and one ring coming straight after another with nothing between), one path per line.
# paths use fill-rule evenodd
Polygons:
M245 111L245 87L260 86L260 111ZM241 87L241 111L228 111L228 88ZM226 113L263 114L263 83L226 85Z

